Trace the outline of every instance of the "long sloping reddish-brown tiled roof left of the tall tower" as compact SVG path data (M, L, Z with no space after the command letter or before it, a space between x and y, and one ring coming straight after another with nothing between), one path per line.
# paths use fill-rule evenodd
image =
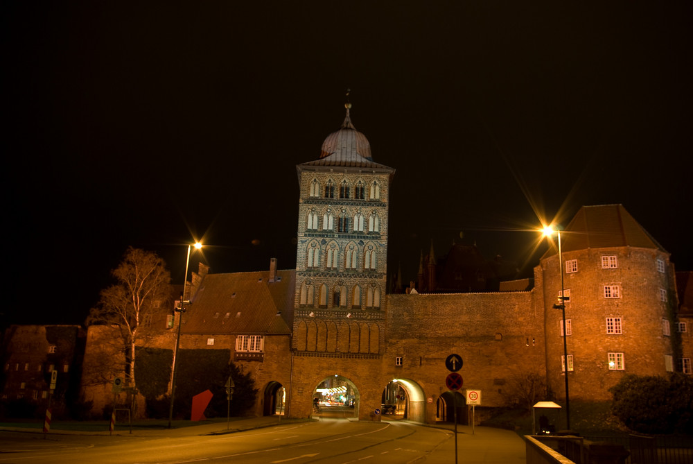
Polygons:
M207 274L186 307L184 334L290 334L295 270Z

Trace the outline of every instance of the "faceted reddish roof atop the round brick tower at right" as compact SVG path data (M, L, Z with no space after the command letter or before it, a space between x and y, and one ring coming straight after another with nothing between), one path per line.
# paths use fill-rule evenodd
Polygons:
M638 224L623 205L584 206L561 231L561 249L565 251L586 248L633 246L666 250ZM542 258L554 255L551 247Z

